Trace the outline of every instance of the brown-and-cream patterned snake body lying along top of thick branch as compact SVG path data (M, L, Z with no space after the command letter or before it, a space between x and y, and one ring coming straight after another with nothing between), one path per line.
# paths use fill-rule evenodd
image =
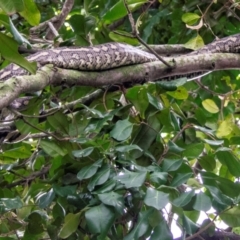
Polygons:
M190 55L202 53L238 53L240 52L240 34L214 41ZM146 51L122 43L106 43L92 47L55 48L42 50L27 57L28 61L36 61L38 68L53 64L59 68L98 71L121 66L159 61ZM13 76L26 75L28 72L15 64L10 64L0 71L0 81Z

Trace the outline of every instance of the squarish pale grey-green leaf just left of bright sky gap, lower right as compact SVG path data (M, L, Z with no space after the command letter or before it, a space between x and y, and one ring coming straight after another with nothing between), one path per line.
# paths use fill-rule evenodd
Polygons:
M161 210L168 204L169 194L157 191L153 188L148 188L144 198L144 202L148 206Z

